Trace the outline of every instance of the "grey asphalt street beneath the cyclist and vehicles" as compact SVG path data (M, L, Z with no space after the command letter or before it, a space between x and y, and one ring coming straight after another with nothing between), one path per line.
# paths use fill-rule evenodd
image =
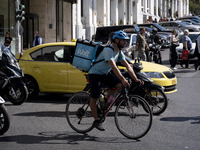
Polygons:
M169 49L162 51L169 66ZM167 94L168 108L153 117L149 133L140 140L125 138L117 130L114 117L96 129L78 134L67 124L65 106L70 95L41 94L20 106L6 102L11 126L0 136L1 150L200 150L200 71L176 66L178 91Z

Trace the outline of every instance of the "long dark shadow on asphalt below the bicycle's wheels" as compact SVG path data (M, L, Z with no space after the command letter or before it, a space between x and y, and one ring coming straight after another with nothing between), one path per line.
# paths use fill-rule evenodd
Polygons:
M75 132L41 132L38 135L15 135L0 137L0 142L16 142L18 144L79 144L81 141L94 141L101 143L132 143L138 142L119 137L95 137Z

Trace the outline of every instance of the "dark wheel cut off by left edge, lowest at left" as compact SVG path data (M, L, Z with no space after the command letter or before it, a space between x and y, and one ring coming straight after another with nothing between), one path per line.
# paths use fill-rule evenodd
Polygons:
M0 105L0 135L3 135L8 131L10 127L10 117L8 116L7 110L4 104Z

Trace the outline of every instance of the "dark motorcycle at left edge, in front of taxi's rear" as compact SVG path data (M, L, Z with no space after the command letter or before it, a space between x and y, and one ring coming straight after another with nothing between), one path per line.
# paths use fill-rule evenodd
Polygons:
M0 96L14 105L21 105L28 98L28 90L22 81L24 76L15 56L5 46L1 46Z

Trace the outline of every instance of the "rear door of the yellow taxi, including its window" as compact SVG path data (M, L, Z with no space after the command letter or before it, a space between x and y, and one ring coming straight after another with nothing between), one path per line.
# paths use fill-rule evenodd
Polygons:
M41 92L66 92L68 90L67 63L64 46L46 46L30 54L30 64Z

